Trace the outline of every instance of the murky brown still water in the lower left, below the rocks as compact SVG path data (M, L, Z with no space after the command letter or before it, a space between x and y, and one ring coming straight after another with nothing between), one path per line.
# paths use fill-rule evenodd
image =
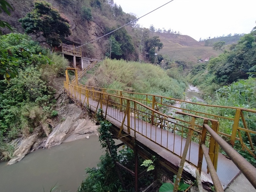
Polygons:
M58 191L76 192L85 179L84 169L95 167L103 154L98 136L92 135L39 149L12 165L1 162L0 191L48 192L57 183Z

